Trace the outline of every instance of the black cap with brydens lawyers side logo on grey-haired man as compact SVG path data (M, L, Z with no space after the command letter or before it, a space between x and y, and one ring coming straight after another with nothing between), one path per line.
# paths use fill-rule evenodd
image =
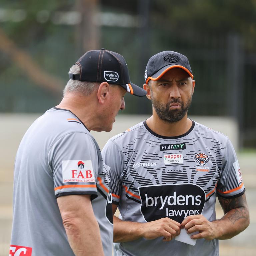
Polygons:
M145 96L147 94L141 87L131 83L125 59L116 52L103 48L88 51L75 64L79 66L80 74L69 74L70 79L119 84L133 95Z

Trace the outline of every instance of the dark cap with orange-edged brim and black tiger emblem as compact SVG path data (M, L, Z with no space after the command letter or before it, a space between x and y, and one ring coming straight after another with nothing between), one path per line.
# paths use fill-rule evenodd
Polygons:
M145 71L145 83L147 84L149 80L158 80L172 68L184 69L193 79L192 70L186 56L178 52L164 51L149 59Z

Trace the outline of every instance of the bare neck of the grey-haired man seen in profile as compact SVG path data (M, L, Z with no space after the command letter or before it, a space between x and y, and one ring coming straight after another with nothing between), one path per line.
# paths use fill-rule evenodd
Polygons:
M68 109L75 114L87 127L87 129L93 130L96 126L97 114L92 109L95 109L95 102L86 96L75 95L67 93L63 97L62 101L57 108Z

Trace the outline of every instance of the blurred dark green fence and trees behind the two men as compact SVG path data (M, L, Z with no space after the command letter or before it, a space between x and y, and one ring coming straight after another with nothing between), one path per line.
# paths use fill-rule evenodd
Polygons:
M69 67L87 50L122 54L141 86L149 57L174 50L189 58L196 80L189 114L235 118L240 148L255 148L255 17L255 0L2 0L0 112L56 105ZM127 95L126 106L126 114L151 112L146 98Z

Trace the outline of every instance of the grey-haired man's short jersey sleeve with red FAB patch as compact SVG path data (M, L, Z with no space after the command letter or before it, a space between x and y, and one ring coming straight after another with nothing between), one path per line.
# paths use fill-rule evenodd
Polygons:
M89 135L73 132L57 139L48 151L55 197L90 194L97 197L99 160Z

